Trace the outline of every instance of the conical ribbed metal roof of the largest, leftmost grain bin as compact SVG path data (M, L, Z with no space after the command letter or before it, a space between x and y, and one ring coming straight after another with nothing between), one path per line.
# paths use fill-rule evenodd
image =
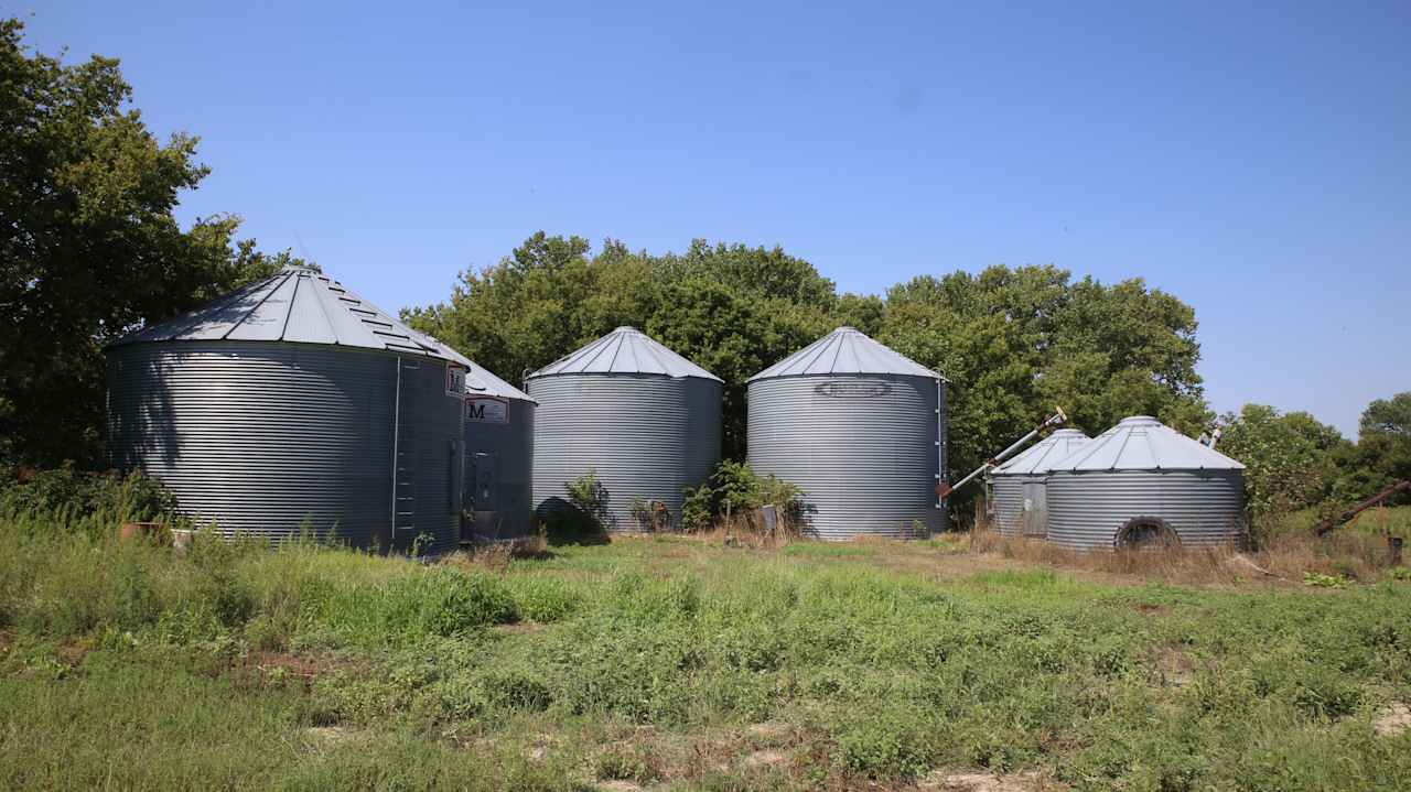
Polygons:
M113 345L157 341L286 341L453 359L449 347L306 266L286 266Z

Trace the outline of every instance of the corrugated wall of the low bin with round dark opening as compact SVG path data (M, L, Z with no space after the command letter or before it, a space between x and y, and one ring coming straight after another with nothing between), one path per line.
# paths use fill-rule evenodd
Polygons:
M1048 541L1112 550L1133 517L1158 517L1182 547L1215 547L1245 533L1242 471L1110 471L1048 475Z

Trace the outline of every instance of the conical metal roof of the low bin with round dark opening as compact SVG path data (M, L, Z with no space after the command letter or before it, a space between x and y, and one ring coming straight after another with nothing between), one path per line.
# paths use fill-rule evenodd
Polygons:
M1185 437L1151 416L1122 419L1050 472L1068 471L1242 471L1235 459Z

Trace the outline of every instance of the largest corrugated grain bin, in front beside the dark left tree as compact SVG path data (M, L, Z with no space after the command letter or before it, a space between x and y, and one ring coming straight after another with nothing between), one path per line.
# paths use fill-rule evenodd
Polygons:
M111 462L227 536L453 550L464 369L442 349L286 268L107 348Z

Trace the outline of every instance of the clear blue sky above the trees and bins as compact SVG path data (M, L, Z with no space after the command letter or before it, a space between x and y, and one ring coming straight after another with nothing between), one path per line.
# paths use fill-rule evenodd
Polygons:
M289 6L0 0L200 135L185 217L388 310L540 228L855 292L1055 264L1191 303L1221 412L1411 390L1405 0Z

